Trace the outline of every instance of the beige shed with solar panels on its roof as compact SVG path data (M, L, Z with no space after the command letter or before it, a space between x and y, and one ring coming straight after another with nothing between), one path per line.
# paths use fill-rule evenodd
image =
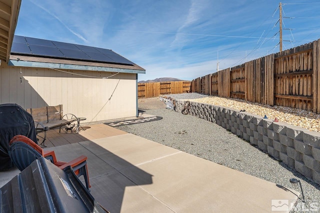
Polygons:
M1 103L62 104L87 122L137 116L137 74L145 70L109 49L14 35L0 68Z

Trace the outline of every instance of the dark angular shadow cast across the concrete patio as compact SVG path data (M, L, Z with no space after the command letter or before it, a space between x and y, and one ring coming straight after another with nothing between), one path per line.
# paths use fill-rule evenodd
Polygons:
M127 187L152 184L152 175L92 141L83 141L50 149L55 150L59 160L68 160L64 158L70 158L70 150L76 153L73 156L87 156L91 194L99 204L112 213L121 211L123 196ZM130 174L130 177L135 177L134 180L128 178L127 174Z

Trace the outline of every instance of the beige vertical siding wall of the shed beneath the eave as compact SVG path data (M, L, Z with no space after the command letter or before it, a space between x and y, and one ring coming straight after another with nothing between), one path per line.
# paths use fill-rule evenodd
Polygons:
M136 115L135 74L46 68L0 67L0 103L23 108L63 104L63 114L86 117L85 122ZM88 75L94 77L79 76Z

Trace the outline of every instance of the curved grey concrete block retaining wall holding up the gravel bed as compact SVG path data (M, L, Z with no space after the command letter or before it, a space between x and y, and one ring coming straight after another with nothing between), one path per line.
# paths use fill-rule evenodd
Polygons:
M184 101L175 101L175 111ZM320 133L226 107L190 102L189 115L218 124L320 184Z

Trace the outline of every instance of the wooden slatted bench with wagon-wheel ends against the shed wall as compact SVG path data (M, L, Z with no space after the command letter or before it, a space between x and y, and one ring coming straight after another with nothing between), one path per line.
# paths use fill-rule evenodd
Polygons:
M76 121L77 118L73 114L63 115L62 104L57 106L46 106L40 108L26 109L30 113L34 120L34 127L36 133L44 132L44 136L38 136L42 138L41 146L45 147L44 141L46 139L46 131L59 127L59 132L62 126L66 126L66 131L70 129L71 122ZM72 128L70 129L72 132Z

